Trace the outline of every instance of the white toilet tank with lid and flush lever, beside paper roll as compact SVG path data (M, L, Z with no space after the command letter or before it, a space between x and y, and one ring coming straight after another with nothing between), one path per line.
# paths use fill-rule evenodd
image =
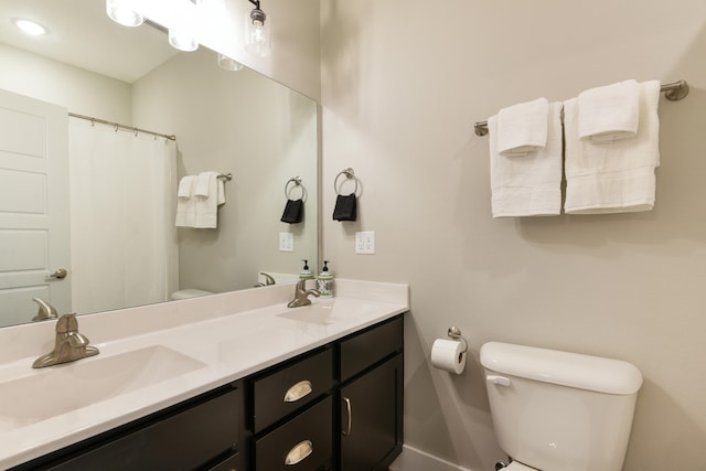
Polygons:
M620 471L640 371L630 363L489 342L481 364L505 471Z

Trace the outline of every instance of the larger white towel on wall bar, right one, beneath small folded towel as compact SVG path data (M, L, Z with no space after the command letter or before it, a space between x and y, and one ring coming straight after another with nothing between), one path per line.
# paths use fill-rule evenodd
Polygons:
M654 206L660 165L660 82L640 84L640 129L633 139L600 143L579 140L578 99L564 103L568 214L649 211Z

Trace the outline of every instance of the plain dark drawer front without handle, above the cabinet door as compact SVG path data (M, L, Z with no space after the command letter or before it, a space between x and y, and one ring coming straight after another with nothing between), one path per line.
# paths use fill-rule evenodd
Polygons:
M341 341L341 382L386 356L402 352L404 323L399 315Z

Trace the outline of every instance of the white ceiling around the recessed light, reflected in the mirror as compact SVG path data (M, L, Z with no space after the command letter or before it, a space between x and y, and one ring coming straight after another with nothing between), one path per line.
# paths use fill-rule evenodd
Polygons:
M29 36L14 19L36 21L49 34ZM104 0L0 0L0 43L127 83L179 54L148 24L126 28L111 21Z

